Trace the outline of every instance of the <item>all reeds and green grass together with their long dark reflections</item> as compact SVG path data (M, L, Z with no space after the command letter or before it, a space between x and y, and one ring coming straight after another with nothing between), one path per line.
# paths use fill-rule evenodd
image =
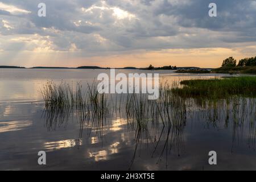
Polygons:
M114 99L97 91L97 83L59 85L48 81L42 89L45 101L46 125L55 129L73 113L80 122L79 139L86 128L102 136L112 126L113 115L127 120L134 131L134 155L142 144L154 144L152 156L159 160L171 151L184 150L184 129L187 123L203 122L205 127L232 127L232 151L240 140L241 131L249 121L247 145L255 150L256 81L255 77L188 80L160 86L158 100L148 100L147 94L121 94ZM242 97L245 96L245 97ZM250 97L247 97L250 96ZM115 111L115 112L114 112ZM166 163L166 166L168 164Z

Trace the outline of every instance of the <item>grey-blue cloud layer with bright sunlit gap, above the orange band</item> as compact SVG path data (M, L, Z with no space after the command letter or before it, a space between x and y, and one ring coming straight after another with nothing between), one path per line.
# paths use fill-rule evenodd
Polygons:
M45 0L45 18L37 15L40 2L0 2L0 49L88 57L235 48L256 40L251 0ZM208 16L210 2L217 4L217 18Z

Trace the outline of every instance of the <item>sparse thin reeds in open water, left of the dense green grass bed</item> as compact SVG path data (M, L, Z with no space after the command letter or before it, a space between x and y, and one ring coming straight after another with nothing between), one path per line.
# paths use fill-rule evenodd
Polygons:
M170 92L170 86L161 87L159 101L148 100L147 94L121 94L114 96L100 94L97 84L94 82L88 85L88 89L82 92L82 85L77 83L76 88L65 82L55 84L48 81L41 90L45 102L49 120L54 118L54 114L71 113L75 110L82 120L90 118L93 125L97 125L101 131L101 126L108 120L110 114L125 111L127 121L144 131L150 122L161 121L163 125L173 125L175 127L184 126L185 103L183 98L176 97ZM49 114L53 113L53 114ZM66 117L67 115L63 115ZM94 122L96 121L96 122ZM49 122L49 126L52 126Z

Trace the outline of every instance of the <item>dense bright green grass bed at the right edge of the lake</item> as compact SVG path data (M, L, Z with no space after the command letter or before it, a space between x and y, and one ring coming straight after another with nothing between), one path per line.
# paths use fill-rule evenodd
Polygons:
M172 88L181 97L226 98L233 95L256 96L256 77L214 78L185 80L182 87Z

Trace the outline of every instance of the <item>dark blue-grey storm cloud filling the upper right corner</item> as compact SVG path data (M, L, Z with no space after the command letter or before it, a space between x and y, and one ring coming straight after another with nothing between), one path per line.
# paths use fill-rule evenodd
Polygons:
M208 16L211 2L217 4L217 18ZM256 27L256 2L251 0L193 0L181 5L172 5L170 1L164 0L154 14L174 15L183 27L219 31L246 31L245 28Z

